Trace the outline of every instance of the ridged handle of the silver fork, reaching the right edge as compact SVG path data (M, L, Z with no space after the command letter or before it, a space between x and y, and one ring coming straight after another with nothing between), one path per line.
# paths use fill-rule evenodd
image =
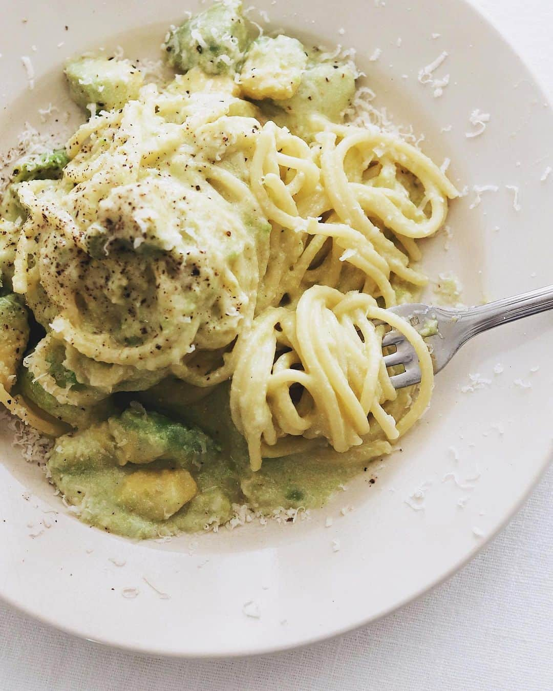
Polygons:
M507 324L525 316L553 310L553 285L531 290L521 295L496 300L486 305L459 310L460 325L463 325L463 343L476 334Z

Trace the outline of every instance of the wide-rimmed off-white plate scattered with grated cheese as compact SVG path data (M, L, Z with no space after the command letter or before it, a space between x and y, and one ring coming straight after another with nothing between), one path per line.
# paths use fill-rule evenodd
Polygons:
M188 4L197 9L196 2ZM460 187L498 186L473 208L474 191L454 204L449 252L443 252L445 237L427 248L431 276L454 270L466 301L552 283L553 176L540 178L553 166L553 116L521 60L471 6L461 0L385 6L347 0L340 10L327 0L257 4L273 26L356 48L379 104L397 122L425 133L423 149L435 160L451 158ZM66 57L117 44L130 57L155 55L169 23L181 19L176 7L173 0L119 0L109 7L52 0L32 3L32 12L18 3L4 8L2 149L14 143L24 120L40 126L37 108L49 102L65 108L60 68ZM263 23L257 12L251 16ZM370 61L376 48L380 58ZM435 98L431 86L418 82L418 70L443 51L448 56L436 76L449 73L450 83ZM21 55L34 65L33 91ZM491 119L483 135L467 138L476 108ZM520 190L519 211L507 185ZM79 636L176 656L283 650L383 616L472 558L539 479L551 449L552 341L552 316L543 314L466 345L438 376L431 408L402 442L402 453L376 469L376 484L367 482L367 472L311 521L295 525L134 544L69 515L4 434L0 594ZM501 374L494 374L496 363ZM534 366L541 369L532 372ZM491 383L462 392L475 372ZM444 481L447 473L463 487ZM465 498L463 509L458 502ZM342 516L342 507L354 510ZM58 513L44 513L51 509ZM326 529L328 515L333 525ZM333 551L332 540L339 540L340 551ZM126 563L118 567L110 558ZM125 588L139 594L125 598ZM249 601L259 618L244 614Z

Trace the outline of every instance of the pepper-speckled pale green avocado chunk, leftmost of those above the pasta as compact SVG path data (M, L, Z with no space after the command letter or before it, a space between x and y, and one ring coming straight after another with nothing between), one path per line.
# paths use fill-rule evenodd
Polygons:
M82 108L95 103L111 111L138 97L144 77L129 60L81 57L66 66L69 93Z

